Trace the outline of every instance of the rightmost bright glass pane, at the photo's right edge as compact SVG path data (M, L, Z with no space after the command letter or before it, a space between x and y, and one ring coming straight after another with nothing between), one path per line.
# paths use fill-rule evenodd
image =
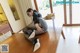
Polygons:
M77 3L72 4L72 24L80 24L80 0L72 0Z

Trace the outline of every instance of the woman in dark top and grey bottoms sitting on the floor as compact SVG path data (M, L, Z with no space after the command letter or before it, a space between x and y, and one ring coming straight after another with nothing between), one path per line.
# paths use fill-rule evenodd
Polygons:
M40 43L39 43L39 39L35 38L35 36L47 32L47 24L42 19L42 15L38 11L29 8L26 11L26 13L29 17L33 17L34 25L33 26L30 26L31 24L28 25L26 28L24 28L23 32L29 35L28 39L35 45L34 51L36 51L40 47Z

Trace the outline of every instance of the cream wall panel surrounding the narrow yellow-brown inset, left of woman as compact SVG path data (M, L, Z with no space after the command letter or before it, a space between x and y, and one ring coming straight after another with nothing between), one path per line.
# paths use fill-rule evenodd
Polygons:
M24 18L23 18L24 16L23 16L22 11L20 9L20 6L18 4L18 1L14 0L14 2L16 4L15 7L17 7L17 11L18 11L19 17L20 17L20 20L17 20L17 21L15 21L15 19L14 19L14 16L12 14L12 11L9 7L9 4L8 4L7 0L0 0L0 3L1 3L1 5L4 9L4 12L5 12L5 14L8 18L8 21L9 21L9 23L10 23L12 29L13 29L13 32L15 33L15 32L20 31L21 29L23 29L26 26L26 24L25 24L25 21L24 21Z

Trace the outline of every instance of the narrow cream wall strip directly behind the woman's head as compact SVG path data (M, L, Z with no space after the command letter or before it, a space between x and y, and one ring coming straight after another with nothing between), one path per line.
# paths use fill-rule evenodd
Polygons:
M24 15L24 19L26 21L26 25L28 25L28 24L30 24L32 22L32 18L27 16L26 10L28 8L33 8L32 7L32 2L31 2L31 0L18 0L18 2L19 2L20 7L22 9L22 13Z

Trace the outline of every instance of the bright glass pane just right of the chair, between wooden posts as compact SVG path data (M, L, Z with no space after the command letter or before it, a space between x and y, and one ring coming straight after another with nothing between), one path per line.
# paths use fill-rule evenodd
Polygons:
M64 8L62 3L63 0L52 0L53 13L55 14L55 23L57 26L61 26L64 23Z

